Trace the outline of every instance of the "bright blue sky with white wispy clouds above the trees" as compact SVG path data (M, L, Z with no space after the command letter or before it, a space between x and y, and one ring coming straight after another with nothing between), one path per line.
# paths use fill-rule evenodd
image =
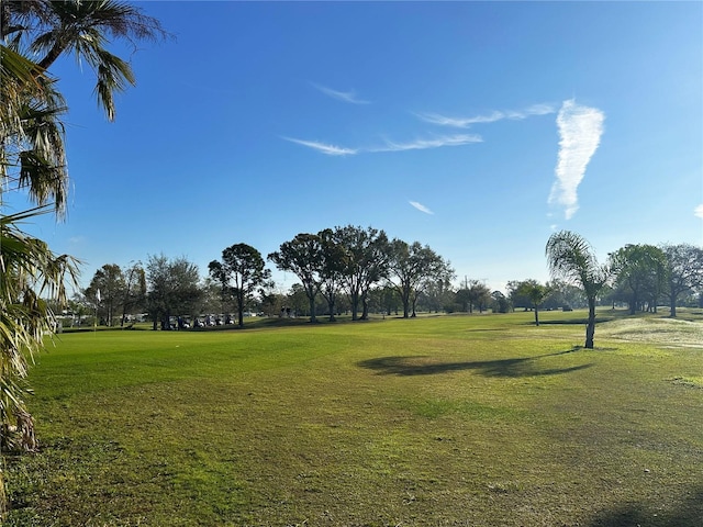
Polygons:
M458 279L548 279L569 229L600 258L703 245L701 2L143 2L176 35L129 54L108 123L67 59L71 195L27 228L104 264L199 265L373 226ZM275 273L279 285L294 277Z

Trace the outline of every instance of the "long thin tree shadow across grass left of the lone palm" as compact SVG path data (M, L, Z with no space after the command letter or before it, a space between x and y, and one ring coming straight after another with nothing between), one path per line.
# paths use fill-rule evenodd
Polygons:
M592 363L572 366L570 368L539 368L535 363L537 359L545 357L556 357L558 355L570 354L574 349L559 351L556 354L540 355L537 357L522 357L516 359L500 360L472 360L466 362L433 362L429 356L394 356L379 357L377 359L362 360L357 365L361 368L375 370L380 375L435 375L449 373L453 371L477 370L484 377L534 377L555 375L583 370L593 366Z

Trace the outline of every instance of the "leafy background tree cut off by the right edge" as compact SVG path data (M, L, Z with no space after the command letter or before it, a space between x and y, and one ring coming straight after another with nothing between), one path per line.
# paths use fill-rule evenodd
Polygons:
M690 244L661 247L667 259L667 288L670 315L677 316L677 301L685 292L703 288L703 249Z

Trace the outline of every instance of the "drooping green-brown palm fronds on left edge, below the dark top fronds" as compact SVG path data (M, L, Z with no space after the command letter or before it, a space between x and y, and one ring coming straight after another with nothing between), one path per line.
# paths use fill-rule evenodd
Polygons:
M55 330L49 301L66 298L65 278L76 281L76 261L53 254L19 224L38 214L60 215L66 195L63 125L65 108L54 82L35 63L0 45L1 193L26 190L38 204L0 215L0 448L33 450L34 422L27 412L27 361ZM0 466L0 519L7 509Z

